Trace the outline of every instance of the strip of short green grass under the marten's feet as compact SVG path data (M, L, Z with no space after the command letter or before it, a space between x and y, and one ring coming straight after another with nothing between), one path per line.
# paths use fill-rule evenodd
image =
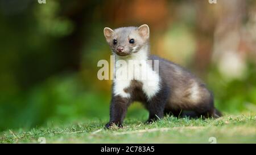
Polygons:
M29 131L0 133L0 143L256 143L256 115L229 115L218 119L165 117L146 125L138 119L126 119L124 127L105 130L102 120L82 123L48 123Z

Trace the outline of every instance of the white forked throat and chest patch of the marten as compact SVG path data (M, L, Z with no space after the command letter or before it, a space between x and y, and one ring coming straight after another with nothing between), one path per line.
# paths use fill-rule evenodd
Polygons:
M148 100L158 93L160 90L158 61L154 61L154 70L152 70L152 61L147 61L147 48L142 48L137 53L129 55L129 57L122 58L116 55L115 58L115 78L113 81L115 96L129 98L130 94L124 90L130 87L131 80L138 80L143 84L142 90Z

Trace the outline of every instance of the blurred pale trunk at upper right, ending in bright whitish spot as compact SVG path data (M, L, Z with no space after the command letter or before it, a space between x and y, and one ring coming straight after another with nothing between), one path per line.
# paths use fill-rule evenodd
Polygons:
M229 79L240 79L246 70L245 42L243 42L243 19L246 1L218 1L218 21L214 32L213 62Z

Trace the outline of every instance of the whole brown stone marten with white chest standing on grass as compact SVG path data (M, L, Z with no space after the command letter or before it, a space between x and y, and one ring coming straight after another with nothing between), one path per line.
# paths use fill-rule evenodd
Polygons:
M104 36L115 55L110 120L106 128L114 124L122 127L127 108L134 101L141 102L148 110L146 123L165 114L179 117L184 111L197 117L221 117L214 108L213 94L201 80L178 64L150 55L148 25L104 28Z

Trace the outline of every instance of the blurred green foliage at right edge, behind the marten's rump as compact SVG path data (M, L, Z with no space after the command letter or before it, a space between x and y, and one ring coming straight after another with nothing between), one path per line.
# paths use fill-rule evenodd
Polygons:
M252 111L255 113L256 103L256 67L254 63L247 64L249 72L242 80L225 81L216 68L208 74L208 84L215 94L217 107L229 113Z

